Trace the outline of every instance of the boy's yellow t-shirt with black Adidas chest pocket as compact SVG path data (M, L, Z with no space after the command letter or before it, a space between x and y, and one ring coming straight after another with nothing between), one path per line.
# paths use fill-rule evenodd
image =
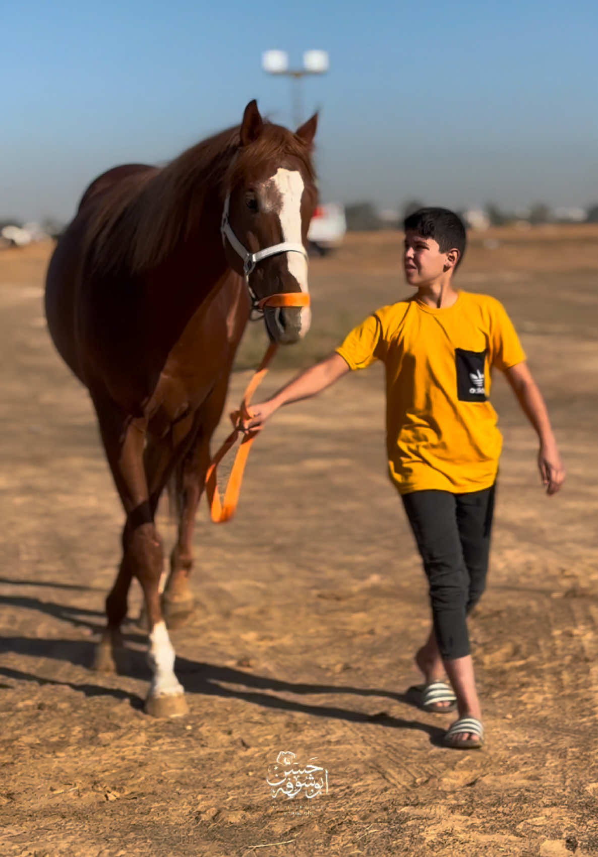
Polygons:
M384 363L390 478L401 494L492 485L503 439L490 370L525 360L501 303L463 291L442 309L408 298L378 309L336 351L351 369Z

